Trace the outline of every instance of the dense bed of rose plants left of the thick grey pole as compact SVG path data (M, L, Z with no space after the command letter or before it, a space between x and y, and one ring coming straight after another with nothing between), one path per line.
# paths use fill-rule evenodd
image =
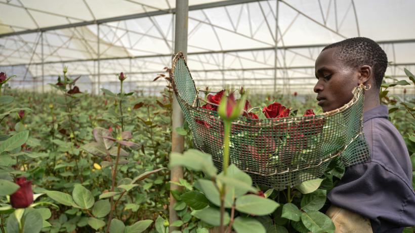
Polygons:
M18 95L0 76L2 232L141 232L167 213L168 106L124 93L123 73L120 92L103 89L99 102L67 69L46 95Z

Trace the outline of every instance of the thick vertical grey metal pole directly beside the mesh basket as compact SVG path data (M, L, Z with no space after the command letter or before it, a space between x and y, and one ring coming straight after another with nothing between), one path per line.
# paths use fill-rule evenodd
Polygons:
M182 52L187 58L187 27L188 27L189 1L176 0L176 26L175 26L175 53ZM176 132L177 127L183 126L183 112L180 109L176 97L173 98L173 115L172 115L172 152L182 153L184 150L184 137ZM172 167L170 179L179 182L179 178L183 178L183 168L180 166ZM174 183L170 184L170 190L178 190L180 187ZM176 200L170 194L169 221L172 223L179 220L174 209ZM169 232L178 230L178 227L169 227Z

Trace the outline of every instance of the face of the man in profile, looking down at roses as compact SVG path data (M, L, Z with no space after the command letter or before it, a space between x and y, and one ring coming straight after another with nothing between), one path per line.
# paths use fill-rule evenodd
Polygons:
M318 105L324 112L335 110L353 98L352 90L358 85L358 72L334 57L337 48L324 50L315 64Z

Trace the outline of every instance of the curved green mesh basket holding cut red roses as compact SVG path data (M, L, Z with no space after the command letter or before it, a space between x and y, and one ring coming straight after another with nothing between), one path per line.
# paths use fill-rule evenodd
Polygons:
M223 122L216 111L199 106L198 91L182 53L173 56L172 86L197 149L223 161ZM337 160L351 166L369 159L362 131L362 86L353 99L334 111L315 116L251 119L232 122L229 160L253 181L275 189L320 177Z

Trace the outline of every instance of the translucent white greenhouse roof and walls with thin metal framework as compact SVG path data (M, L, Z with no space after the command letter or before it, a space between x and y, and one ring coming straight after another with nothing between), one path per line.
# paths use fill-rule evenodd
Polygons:
M0 0L0 70L41 91L68 66L92 92L117 88L123 71L130 90L157 93L165 83L153 79L174 51L175 2ZM415 72L412 9L412 0L189 0L188 65L200 87L310 94L322 48L365 36L401 79L404 67Z

